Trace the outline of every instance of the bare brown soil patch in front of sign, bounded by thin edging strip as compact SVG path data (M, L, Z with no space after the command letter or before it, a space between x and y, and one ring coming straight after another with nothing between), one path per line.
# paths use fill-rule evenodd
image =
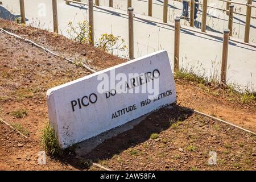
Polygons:
M210 151L216 165L208 163ZM115 170L255 170L255 152L247 133L174 105L104 142L88 160Z

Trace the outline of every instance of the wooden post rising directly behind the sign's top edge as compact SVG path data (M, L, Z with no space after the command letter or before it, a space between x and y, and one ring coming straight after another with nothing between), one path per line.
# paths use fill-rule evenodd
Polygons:
M129 59L134 59L133 7L128 8L129 14Z

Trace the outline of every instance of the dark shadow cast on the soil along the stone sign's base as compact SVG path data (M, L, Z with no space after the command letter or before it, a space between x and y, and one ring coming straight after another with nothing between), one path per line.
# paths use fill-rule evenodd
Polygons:
M71 158L60 159L63 163L77 169L88 169L92 163L98 163L100 160L112 158L114 155L120 154L122 151L137 144L143 143L150 139L152 133L160 133L171 127L172 123L184 121L193 114L193 110L179 105L164 107L154 113L147 115L133 129L118 134L116 137L105 140L89 153ZM85 141L86 142L86 141ZM78 147L78 146L76 146ZM74 148L69 148L69 153ZM75 158L75 159L74 159Z

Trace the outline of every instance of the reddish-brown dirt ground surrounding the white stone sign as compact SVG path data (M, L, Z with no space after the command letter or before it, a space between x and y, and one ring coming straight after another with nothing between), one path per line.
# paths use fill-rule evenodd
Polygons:
M122 59L63 36L6 22L0 27L29 38L73 60L82 59L96 70L123 63ZM90 73L18 39L0 32L0 118L22 126L28 139L0 123L1 170L97 169L90 161L112 169L256 169L255 136L191 109L214 115L256 131L256 105L213 96L196 84L176 81L177 105L150 114L133 130L107 140L84 159L70 148L63 158L38 164L42 129L47 122L46 91ZM15 111L24 113L17 117ZM176 123L176 124L175 124ZM143 132L141 132L143 131ZM156 138L150 135L156 133ZM209 166L209 152L217 152L217 165Z

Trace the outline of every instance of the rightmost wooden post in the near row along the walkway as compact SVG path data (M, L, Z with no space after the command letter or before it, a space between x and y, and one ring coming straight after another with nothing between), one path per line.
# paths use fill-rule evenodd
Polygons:
M229 30L224 30L221 62L221 82L226 83L226 67L228 65Z

